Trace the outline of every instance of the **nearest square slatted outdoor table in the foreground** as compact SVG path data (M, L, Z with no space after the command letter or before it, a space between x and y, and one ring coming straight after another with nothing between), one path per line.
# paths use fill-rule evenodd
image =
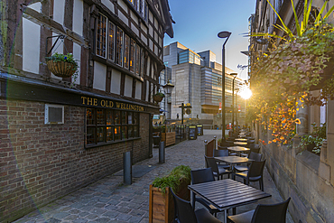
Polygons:
M227 209L237 208L272 196L231 179L192 184L188 188L220 211L224 211L224 222L227 222Z

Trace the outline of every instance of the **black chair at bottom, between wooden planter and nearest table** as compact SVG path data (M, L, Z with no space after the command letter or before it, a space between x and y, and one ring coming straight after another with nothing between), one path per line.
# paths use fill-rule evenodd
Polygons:
M190 201L182 200L172 191L172 198L174 200L174 209L176 211L176 218L174 222L180 223L220 223L218 218L212 216L207 209L192 209ZM178 221L177 221L178 220Z

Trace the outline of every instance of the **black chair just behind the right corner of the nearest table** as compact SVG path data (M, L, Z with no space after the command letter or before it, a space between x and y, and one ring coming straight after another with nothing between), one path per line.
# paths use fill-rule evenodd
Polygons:
M249 185L250 181L259 181L260 190L264 191L264 161L253 161L247 172L237 172L236 176L244 179L244 183Z

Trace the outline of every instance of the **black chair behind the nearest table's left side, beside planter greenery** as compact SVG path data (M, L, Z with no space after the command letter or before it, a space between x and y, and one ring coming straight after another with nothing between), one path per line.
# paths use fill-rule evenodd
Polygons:
M199 169L196 171L191 171L191 184L197 184L201 182L209 182L209 181L215 181L215 177L213 176L211 167L206 169ZM207 200L204 200L200 197L196 197L196 194L192 192L191 196L191 205L192 209L195 209L195 201L198 201L201 203L206 209L209 210L209 212L212 215L217 216L217 213L219 212L216 207L211 205Z

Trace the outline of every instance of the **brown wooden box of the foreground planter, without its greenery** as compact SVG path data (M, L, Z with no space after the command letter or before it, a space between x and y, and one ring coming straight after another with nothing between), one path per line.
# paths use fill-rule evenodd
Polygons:
M176 194L183 200L190 200L189 182L183 182L180 191ZM149 200L149 222L150 223L171 223L174 218L174 200L169 188L162 194L161 189L150 185Z

